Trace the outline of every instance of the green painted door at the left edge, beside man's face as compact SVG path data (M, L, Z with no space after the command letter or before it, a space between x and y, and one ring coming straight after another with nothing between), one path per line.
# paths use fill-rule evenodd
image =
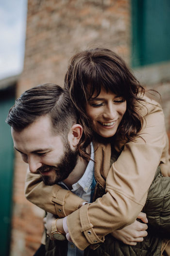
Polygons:
M10 248L14 150L5 119L14 100L0 91L0 256L8 256Z

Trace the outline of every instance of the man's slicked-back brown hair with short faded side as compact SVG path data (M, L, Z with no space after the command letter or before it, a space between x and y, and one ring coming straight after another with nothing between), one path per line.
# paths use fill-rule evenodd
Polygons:
M75 108L68 92L59 85L46 83L25 91L10 109L6 122L16 131L22 131L36 118L48 115L54 132L66 137L77 123Z

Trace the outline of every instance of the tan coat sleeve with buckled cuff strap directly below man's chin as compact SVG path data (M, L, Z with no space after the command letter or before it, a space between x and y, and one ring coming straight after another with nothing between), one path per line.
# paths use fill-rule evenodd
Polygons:
M82 198L59 185L44 185L41 176L32 174L29 170L26 175L25 196L38 207L58 217L69 215L84 202Z

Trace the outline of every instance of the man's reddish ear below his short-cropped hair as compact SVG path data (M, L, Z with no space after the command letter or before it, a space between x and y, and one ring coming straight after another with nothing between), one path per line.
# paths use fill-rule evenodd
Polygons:
M83 127L80 124L74 124L68 134L68 141L70 146L76 147L82 138Z

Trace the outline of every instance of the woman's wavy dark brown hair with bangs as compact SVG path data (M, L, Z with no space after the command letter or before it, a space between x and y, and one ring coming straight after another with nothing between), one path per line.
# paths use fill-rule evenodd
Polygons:
M79 113L84 127L85 146L92 138L85 104L94 92L97 96L104 88L127 102L127 109L119 125L122 139L133 140L142 127L142 118L136 101L143 101L145 89L139 84L123 59L111 50L96 48L77 53L70 59L65 76L65 87Z

